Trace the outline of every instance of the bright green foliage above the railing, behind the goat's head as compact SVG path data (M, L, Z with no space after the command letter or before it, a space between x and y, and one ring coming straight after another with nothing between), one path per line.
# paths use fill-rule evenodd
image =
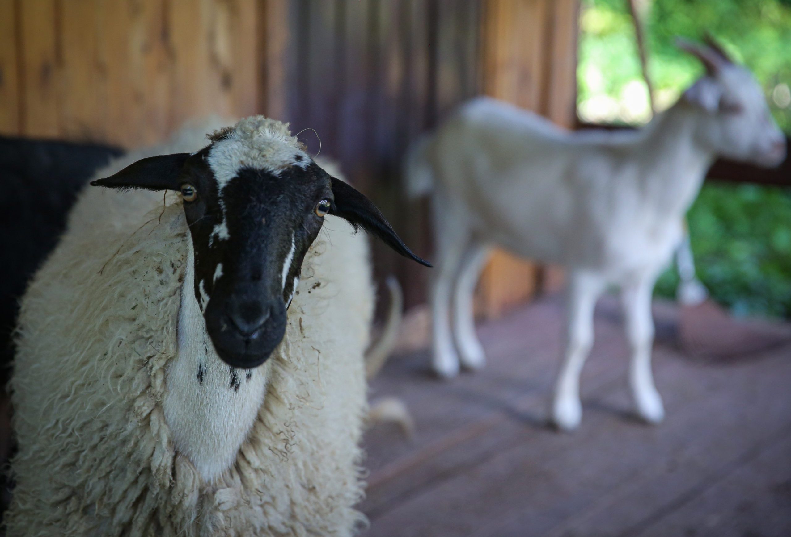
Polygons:
M628 0L583 0L578 103L594 97L619 99L630 84L643 84ZM644 0L645 2L645 0ZM791 103L773 92L791 88L791 2L789 0L653 0L645 21L649 76L660 108L668 107L702 66L675 45L677 36L702 39L709 32L761 82L780 126L791 131ZM645 93L645 88L643 88ZM785 106L782 106L785 104ZM647 99L610 121L646 121ZM623 112L623 111L622 111ZM625 117L624 117L625 116Z

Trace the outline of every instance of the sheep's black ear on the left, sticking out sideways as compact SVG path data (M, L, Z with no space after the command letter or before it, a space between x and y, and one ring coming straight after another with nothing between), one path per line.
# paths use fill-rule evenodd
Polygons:
M149 156L130 164L115 175L91 181L91 185L120 189L179 190L179 175L189 156L189 153Z

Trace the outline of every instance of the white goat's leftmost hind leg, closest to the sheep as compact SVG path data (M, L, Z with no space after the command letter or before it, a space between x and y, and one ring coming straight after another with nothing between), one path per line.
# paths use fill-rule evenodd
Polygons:
M459 373L459 355L453 346L450 325L450 306L453 281L459 263L469 242L469 232L464 216L454 211L451 204L434 193L434 230L437 243L436 260L431 281L431 320L433 326L432 366L440 377L453 377Z

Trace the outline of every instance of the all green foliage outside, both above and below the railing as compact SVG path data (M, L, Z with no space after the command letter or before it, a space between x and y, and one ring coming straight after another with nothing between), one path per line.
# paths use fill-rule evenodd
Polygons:
M650 118L627 2L583 0L577 69L583 118ZM660 109L702 75L702 66L676 48L676 36L702 39L709 32L755 73L774 118L791 132L791 102L785 100L791 87L791 0L653 0L645 32ZM688 221L698 276L713 299L734 314L791 318L791 191L709 183ZM674 296L677 282L676 272L668 270L657 294Z

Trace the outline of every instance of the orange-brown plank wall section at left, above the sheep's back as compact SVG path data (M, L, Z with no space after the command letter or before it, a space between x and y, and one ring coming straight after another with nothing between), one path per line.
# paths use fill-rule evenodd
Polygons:
M262 0L0 0L0 133L134 146L257 110Z

